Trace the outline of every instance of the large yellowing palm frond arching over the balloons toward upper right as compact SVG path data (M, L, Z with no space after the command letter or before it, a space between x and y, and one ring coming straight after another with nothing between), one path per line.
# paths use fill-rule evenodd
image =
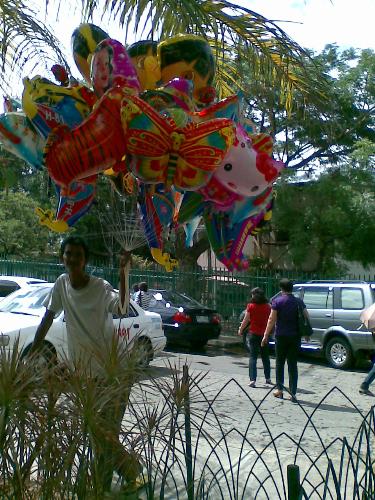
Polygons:
M83 0L90 19L99 8L96 0ZM227 0L106 0L104 10L121 26L134 26L136 35L165 39L177 33L195 33L211 41L217 53L216 87L219 97L241 88L236 61L251 65L252 74L275 86L290 111L293 94L324 100L327 82L309 54L275 22ZM243 67L243 66L242 66Z

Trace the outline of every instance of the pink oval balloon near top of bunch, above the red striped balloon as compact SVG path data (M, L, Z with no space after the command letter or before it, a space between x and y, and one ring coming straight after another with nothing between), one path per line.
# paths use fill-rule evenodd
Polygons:
M136 93L141 90L137 72L125 47L112 38L102 40L95 49L91 62L91 81L99 97L115 86Z

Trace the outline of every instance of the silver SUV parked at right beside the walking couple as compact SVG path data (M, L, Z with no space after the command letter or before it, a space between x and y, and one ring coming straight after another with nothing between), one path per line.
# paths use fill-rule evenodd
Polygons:
M293 293L306 304L314 332L309 342L302 340L303 350L322 353L331 366L340 369L375 350L371 332L359 318L375 302L374 283L314 280L296 283Z

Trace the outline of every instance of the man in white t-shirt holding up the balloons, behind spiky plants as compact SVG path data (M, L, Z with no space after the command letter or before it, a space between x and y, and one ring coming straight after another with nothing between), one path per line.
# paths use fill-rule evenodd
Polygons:
M61 244L60 257L67 270L66 274L59 276L47 297L44 305L47 310L36 331L30 355L37 351L52 325L53 319L60 311L65 313L68 360L74 366L84 370L88 375L99 377L105 384L105 373L97 362L97 354L110 351L112 336L114 334L112 314L124 314L129 303L129 290L125 279L130 267L130 253L120 257L120 291L115 292L105 280L90 276L86 272L86 263L89 250L85 241L79 236L69 236ZM119 402L116 407L121 410L111 413L108 409L108 418L115 418L118 432L124 416L126 404ZM104 410L103 410L104 411ZM103 412L102 411L102 412ZM107 409L105 410L107 412ZM103 415L101 415L103 417ZM110 423L111 425L113 422ZM105 433L103 433L104 435ZM97 441L103 441L103 436L98 436ZM101 447L103 460L108 455L117 457L120 466L113 463L127 482L135 480L140 472L140 466L134 455L122 448L120 443L107 443ZM121 446L121 457L119 447ZM114 449L116 448L116 449ZM99 455L101 454L98 452ZM105 456L104 456L105 455ZM113 469L107 474L106 488L110 488Z

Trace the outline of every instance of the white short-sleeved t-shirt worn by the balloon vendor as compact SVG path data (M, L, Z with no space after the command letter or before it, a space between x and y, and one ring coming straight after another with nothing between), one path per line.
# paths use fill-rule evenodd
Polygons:
M59 276L43 305L55 314L65 312L69 360L92 374L101 372L97 353L109 352L114 332L112 314L118 314L120 299L105 280L90 276L79 290L69 274ZM95 354L94 354L95 353Z

